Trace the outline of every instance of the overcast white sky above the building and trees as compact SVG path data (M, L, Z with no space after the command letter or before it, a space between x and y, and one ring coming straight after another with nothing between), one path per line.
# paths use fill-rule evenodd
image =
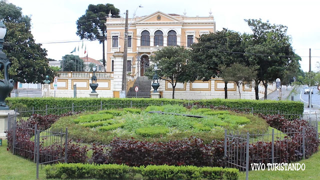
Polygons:
M76 20L85 13L87 6L98 3L112 3L123 16L129 10L129 18L138 5L136 15L148 15L157 10L164 13L187 16L207 16L211 8L216 30L223 27L240 33L250 33L243 19L261 18L270 23L288 27L295 52L302 57L302 70L308 71L309 48L311 48L311 70L317 70L320 61L320 1L318 0L8 0L22 8L24 15L31 15L31 32L35 42L42 43L48 58L60 60L82 42L63 41L80 38L75 34ZM48 43L59 42L59 43ZM102 45L97 41L84 40L88 56L102 59ZM83 46L84 51L84 46ZM80 52L81 53L81 52ZM83 56L79 54L79 56Z

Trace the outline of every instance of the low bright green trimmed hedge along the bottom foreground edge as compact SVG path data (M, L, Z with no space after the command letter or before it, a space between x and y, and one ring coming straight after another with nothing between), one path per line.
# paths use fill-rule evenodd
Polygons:
M118 164L59 163L45 166L46 178L61 179L238 179L235 168L147 165L130 167Z

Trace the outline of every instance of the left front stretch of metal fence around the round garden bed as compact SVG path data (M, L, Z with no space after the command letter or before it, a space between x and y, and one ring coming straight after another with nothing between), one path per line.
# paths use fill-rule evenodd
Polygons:
M51 131L48 127L27 123L24 116L32 111L8 113L8 148L13 155L19 155L36 162L36 178L39 165L67 162L67 128L63 132ZM33 111L34 113L34 111Z

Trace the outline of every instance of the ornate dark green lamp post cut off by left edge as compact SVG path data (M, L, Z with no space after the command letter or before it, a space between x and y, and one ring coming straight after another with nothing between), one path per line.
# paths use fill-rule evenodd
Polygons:
M6 27L0 20L0 71L3 70L4 79L0 79L0 110L8 110L9 107L5 104L4 99L10 94L13 89L13 80L9 79L8 70L10 61L2 51Z

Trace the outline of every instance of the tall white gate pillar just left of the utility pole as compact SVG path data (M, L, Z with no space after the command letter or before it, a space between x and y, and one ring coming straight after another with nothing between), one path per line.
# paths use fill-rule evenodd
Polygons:
M122 68L123 68L123 53L117 52L113 54L113 90L120 91L122 89Z

